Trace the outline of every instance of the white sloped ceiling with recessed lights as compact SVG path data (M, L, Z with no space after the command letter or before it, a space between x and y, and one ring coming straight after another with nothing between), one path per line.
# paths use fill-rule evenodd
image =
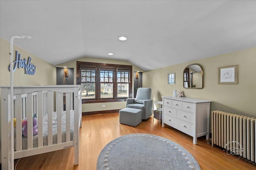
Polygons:
M0 0L0 36L13 35L32 36L14 44L54 65L97 57L152 70L256 47L256 1Z

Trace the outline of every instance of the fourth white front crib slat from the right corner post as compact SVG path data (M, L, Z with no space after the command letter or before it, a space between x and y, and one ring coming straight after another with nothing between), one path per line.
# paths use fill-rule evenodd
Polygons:
M37 112L38 148L43 147L43 112L44 112L43 91L39 91L38 92L38 112Z

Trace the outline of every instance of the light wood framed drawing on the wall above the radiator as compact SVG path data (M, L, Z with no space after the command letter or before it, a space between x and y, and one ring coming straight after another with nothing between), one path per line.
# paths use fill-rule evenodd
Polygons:
M238 84L238 65L219 67L219 84Z

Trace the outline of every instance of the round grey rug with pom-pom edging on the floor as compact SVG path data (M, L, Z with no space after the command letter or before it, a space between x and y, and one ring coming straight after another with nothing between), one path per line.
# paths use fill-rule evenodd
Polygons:
M183 147L156 135L135 133L118 137L100 152L97 170L200 170Z

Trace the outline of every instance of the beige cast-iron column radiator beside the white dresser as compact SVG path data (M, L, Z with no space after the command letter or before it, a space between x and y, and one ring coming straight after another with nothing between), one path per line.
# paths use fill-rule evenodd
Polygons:
M212 147L226 149L226 154L256 163L256 118L224 111L212 111Z

